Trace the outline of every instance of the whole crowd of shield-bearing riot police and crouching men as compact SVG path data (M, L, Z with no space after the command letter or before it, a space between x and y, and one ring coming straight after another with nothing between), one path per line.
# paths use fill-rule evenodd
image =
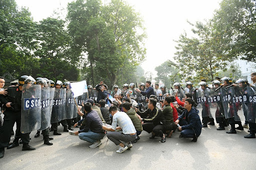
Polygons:
M18 79L17 86L2 89L4 80L0 77L1 112L4 114L0 122L0 158L4 156L5 147L11 149L22 143L22 151L35 150L28 145L32 131L37 130L35 138L41 131L44 144L52 145L49 131L61 135L57 132L59 123L64 127L63 132L92 143L90 148L98 147L106 134L119 146L117 153L130 149L132 143L139 140L142 130L152 133L150 138L161 137L162 143L176 130L181 132L179 138L192 138L192 142L196 142L202 127L214 125L210 108L216 108L215 119L219 124L216 130L225 130L229 124L231 129L226 133L236 134L236 129L248 128L250 133L244 138L255 138L256 73L251 74L251 79L253 84L245 79L232 83L229 77L223 77L212 81L212 88L205 80L198 88L187 81L184 89L175 82L174 88L168 91L164 85L158 89L158 84L153 89L147 81L136 84L139 88L134 83L123 84L122 89L114 85L111 94L107 92L107 85L100 82L95 88L88 85L88 92L73 98L69 82L54 83L47 78L33 79L24 75ZM202 121L196 107L202 108ZM241 108L244 125L237 115ZM15 122L15 138L10 143ZM72 132L72 125L80 130Z

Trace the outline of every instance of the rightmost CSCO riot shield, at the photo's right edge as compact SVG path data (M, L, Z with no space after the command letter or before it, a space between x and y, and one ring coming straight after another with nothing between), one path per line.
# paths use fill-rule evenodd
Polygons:
M243 102L246 106L247 121L255 123L256 118L256 95L252 87L246 86L243 93Z

